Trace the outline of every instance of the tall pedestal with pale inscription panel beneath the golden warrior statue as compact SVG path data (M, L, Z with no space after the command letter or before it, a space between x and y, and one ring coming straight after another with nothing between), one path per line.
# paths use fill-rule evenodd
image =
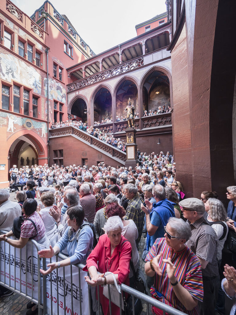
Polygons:
M134 128L126 129L126 161L125 167L127 169L132 166L132 169L135 168L138 163L138 154L137 154L137 144L136 144L136 132Z

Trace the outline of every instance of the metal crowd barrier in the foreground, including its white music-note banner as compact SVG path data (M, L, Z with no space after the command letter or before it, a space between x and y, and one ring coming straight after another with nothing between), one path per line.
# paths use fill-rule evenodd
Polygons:
M5 231L0 231L1 234L6 233ZM50 273L46 276L42 276L40 273L41 265L44 270L46 270L46 259L33 257L33 249L38 251L40 250L39 244L34 240L29 240L27 243L28 246L25 246L25 254L22 255L22 250L20 250L20 257L16 257L16 249L12 247L10 244L2 241L1 242L1 259L0 259L0 270L1 270L1 277L4 276L4 281L0 281L0 285L16 292L17 294L25 297L26 299L32 301L33 303L38 305L39 314L47 314L53 315L57 314L70 314L70 315L82 315L82 289L81 289L81 279L80 274L81 270L84 267L82 264L76 264L73 266L61 267L60 269L55 269L53 273ZM14 250L14 256L11 254L6 253L6 249L8 248L8 253ZM22 257L24 256L24 257ZM31 257L31 259L29 259ZM56 256L56 261L58 259L66 259L68 258L65 255L58 254ZM52 259L50 259L50 262ZM3 266L4 262L4 266ZM8 268L6 268L6 262L8 262ZM28 262L28 263L27 263ZM11 266L14 265L14 274L11 274ZM16 269L20 268L20 277L17 278ZM66 276L65 268L70 268L70 275ZM72 273L72 268L74 268L74 273ZM76 268L76 276L75 276L75 268ZM60 270L60 276L59 276ZM27 271L31 274L30 279L27 277ZM88 273L87 273L88 274ZM77 278L78 275L78 278ZM9 284L6 282L6 278L9 277ZM20 282L20 288L16 287L16 281L12 280L17 278L16 281ZM28 283L31 284L37 283L37 295L34 294L34 290L28 288ZM82 284L82 286L84 283ZM19 285L18 285L19 286ZM25 287L25 292L22 290L22 286ZM89 285L86 285L86 290L88 290L88 296L91 296L91 288ZM139 298L143 303L146 303L147 310L146 314L149 315L150 306L155 306L163 311L163 315L166 313L170 315L183 315L185 313L178 311L177 309L168 306L160 301L153 299L152 297L140 293L139 291L130 288L125 284L121 284L121 290L132 295L132 302L133 302L133 313L132 315L137 315L134 312L134 300L135 298ZM56 293L55 293L56 292ZM108 294L109 294L109 306L111 306L110 300L110 286L108 286ZM62 301L60 301L62 300ZM76 306L74 305L74 301L76 300ZM87 315L92 315L93 309L91 305L91 299L88 299L88 310L86 312ZM79 301L79 302L78 302ZM70 306L67 306L70 304ZM98 311L97 315L101 315L100 309L100 299L99 299L99 290L98 290ZM110 315L112 315L111 307L110 307ZM122 308L121 308L121 296L120 296L120 315L122 315Z

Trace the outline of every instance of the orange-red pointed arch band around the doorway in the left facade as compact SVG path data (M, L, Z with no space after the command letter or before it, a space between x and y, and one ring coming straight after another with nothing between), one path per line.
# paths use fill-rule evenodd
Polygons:
M38 155L41 155L41 156L44 155L46 157L46 153L47 153L46 143L42 141L42 137L40 137L39 134L37 134L35 131L28 130L28 129L22 129L22 130L16 131L13 135L10 135L8 137L7 139L8 151L12 143L22 135L24 135L26 138L32 141L32 143L35 145L37 149Z

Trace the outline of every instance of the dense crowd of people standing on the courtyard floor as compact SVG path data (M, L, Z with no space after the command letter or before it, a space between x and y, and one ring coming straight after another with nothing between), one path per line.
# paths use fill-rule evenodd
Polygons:
M144 233L143 260L152 297L190 315L223 315L224 295L234 298L236 293L235 249L228 264L222 261L228 231L236 232L236 186L227 187L227 212L216 192L203 189L199 198L185 197L171 152L149 156L139 152L139 160L134 169L102 163L90 168L34 165L19 174L20 179L26 178L25 185L16 184L19 175L14 165L10 191L22 190L16 194L18 203L8 200L8 190L0 190L0 228L8 231L0 240L22 248L33 238L47 247L39 251L40 257L68 255L60 263L48 264L42 274L83 263L89 272L85 281L99 286L102 311L107 315L106 285L134 287ZM25 221L19 239L10 238L15 235L13 220L21 211ZM34 221L37 235L27 219ZM89 224L94 225L94 233ZM2 296L10 293L1 288ZM28 307L30 314L36 314L35 305ZM235 309L236 304L232 314ZM113 301L111 312L120 314ZM162 314L156 307L152 312Z

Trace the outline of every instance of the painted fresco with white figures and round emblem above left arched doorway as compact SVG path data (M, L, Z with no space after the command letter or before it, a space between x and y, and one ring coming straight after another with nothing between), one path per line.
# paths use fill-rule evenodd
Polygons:
M0 112L0 120L5 118L7 121L7 132L13 133L19 129L18 126L28 130L34 129L41 137L46 137L47 124L35 121L30 118L15 116L11 113Z

